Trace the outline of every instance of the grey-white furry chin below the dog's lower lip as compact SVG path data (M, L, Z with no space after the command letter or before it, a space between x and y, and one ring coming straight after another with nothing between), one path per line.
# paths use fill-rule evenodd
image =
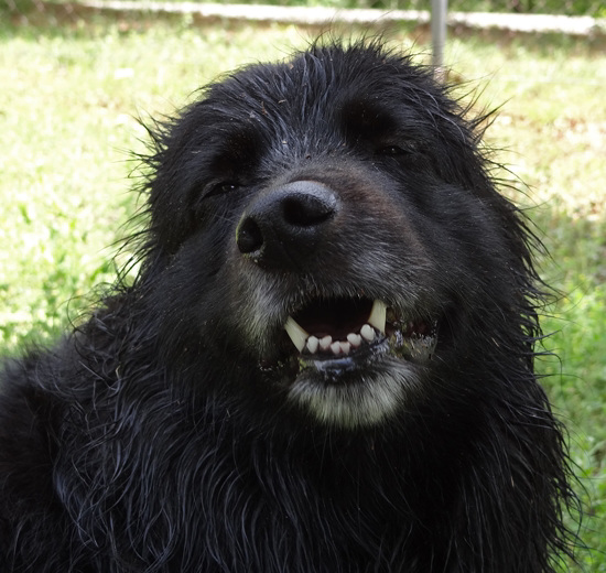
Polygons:
M289 387L289 400L323 425L368 428L400 412L420 386L418 367L392 357L338 378L331 381L331 372L303 368Z

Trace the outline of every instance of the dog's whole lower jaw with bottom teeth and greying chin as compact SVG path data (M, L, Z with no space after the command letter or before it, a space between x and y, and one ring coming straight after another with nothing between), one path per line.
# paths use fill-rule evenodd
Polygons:
M291 403L323 425L356 429L387 422L419 394L435 352L437 323L402 326L383 318L378 324L365 324L361 334L328 344L306 332L297 335L293 331L303 328L289 317L285 329L294 345L285 345L289 353L266 371L286 389Z

